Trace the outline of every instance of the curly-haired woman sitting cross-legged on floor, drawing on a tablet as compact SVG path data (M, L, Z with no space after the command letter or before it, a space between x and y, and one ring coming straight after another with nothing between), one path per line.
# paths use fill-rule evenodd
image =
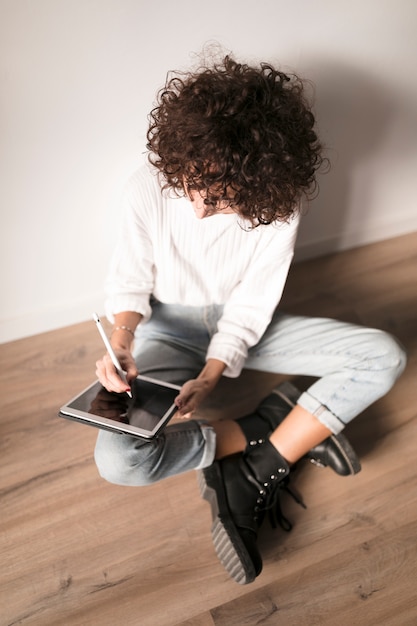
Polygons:
M100 432L96 462L125 485L200 470L218 555L247 583L262 568L263 512L291 466L387 393L405 356L382 331L277 308L300 203L323 163L297 77L230 57L171 77L148 148L124 197L106 313L127 380L140 371L181 384L185 421L152 442ZM259 416L193 420L220 378L242 368L318 380L272 432ZM97 375L126 391L108 355Z

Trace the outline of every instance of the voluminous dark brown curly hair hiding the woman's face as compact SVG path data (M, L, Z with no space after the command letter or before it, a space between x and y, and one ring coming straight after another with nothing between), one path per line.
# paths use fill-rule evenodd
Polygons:
M253 226L287 221L317 188L324 159L303 81L267 63L221 63L168 75L149 115L147 148L178 195L203 192Z

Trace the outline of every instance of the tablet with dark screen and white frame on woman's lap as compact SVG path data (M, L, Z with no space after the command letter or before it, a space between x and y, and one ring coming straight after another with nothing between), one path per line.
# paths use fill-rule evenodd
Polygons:
M59 410L59 416L114 433L152 439L177 412L174 399L181 387L147 376L131 383L132 398L111 393L98 381Z

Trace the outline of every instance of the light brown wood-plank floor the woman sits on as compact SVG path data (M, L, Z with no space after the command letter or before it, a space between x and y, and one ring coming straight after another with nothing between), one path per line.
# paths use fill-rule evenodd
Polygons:
M57 417L94 380L93 322L0 346L1 626L417 624L417 233L296 265L284 302L392 331L409 364L346 431L360 474L301 466L308 508L285 503L291 533L265 526L247 586L216 559L193 472L107 484L96 431ZM231 414L255 403L243 389Z

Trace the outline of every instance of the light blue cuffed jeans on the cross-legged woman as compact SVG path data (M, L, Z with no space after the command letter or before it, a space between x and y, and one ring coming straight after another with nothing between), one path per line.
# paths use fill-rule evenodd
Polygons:
M182 384L205 364L221 306L183 307L159 302L136 335L142 374ZM276 312L246 368L318 378L298 404L333 433L385 395L405 367L404 350L391 335L327 318ZM154 440L100 431L95 460L103 478L119 485L147 485L210 465L216 435L196 420L168 426Z

